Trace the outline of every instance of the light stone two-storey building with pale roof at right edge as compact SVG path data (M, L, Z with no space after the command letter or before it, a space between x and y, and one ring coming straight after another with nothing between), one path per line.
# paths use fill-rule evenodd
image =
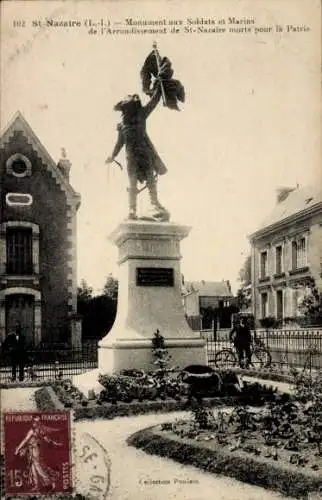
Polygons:
M308 279L322 291L320 186L279 189L273 212L250 242L255 318L296 319Z

